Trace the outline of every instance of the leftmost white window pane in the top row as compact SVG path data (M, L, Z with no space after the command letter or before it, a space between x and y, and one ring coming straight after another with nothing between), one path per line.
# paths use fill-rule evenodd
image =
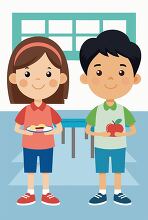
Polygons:
M45 21L43 20L22 20L22 34L45 33Z

